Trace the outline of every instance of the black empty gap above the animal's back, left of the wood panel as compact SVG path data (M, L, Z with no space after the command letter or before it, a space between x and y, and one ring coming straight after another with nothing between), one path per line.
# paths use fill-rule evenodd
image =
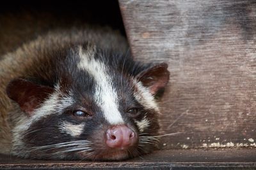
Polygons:
M0 5L0 15L28 11L35 15L51 13L60 20L109 25L125 35L118 1L8 1Z

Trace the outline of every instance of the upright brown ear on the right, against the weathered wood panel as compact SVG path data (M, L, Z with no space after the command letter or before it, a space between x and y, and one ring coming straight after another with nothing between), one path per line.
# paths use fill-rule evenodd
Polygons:
M153 96L159 96L169 81L170 72L167 67L166 63L156 64L139 73L136 78L150 90Z

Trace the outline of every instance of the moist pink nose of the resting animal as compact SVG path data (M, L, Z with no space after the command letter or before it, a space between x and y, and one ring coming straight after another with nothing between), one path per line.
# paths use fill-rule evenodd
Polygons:
M132 146L136 141L136 134L126 125L114 126L106 132L106 144L110 148Z

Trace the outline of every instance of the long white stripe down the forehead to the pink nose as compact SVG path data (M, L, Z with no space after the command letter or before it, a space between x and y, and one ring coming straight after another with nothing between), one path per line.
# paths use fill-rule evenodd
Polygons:
M91 57L88 56L90 53ZM79 69L83 69L92 74L97 83L94 99L101 107L104 117L110 124L123 124L124 120L118 111L118 97L113 89L111 77L107 74L107 69L99 60L92 58L93 52L83 53L79 48L79 57L81 61L78 64Z

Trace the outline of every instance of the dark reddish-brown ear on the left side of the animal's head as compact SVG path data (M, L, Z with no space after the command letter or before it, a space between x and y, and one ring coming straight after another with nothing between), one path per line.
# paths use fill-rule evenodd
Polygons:
M8 97L17 102L20 109L28 116L33 115L33 111L53 90L51 87L38 85L22 78L10 81L6 87Z

